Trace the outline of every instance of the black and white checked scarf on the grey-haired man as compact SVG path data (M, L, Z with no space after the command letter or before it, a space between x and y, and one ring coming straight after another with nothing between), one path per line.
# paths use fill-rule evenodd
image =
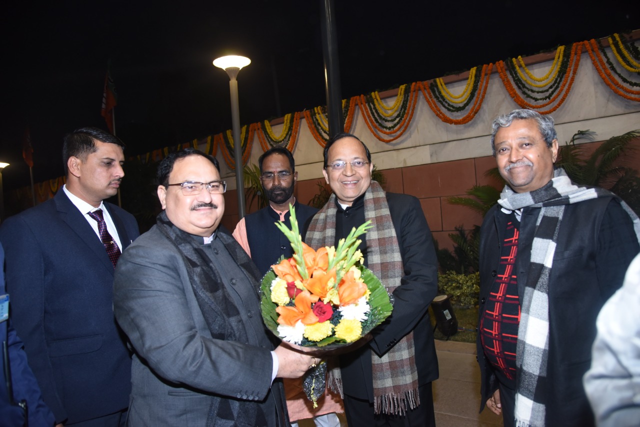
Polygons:
M546 412L547 361L549 350L549 276L564 207L597 197L614 197L610 191L573 184L562 168L554 170L547 185L527 193L505 186L498 204L509 211L541 207L531 247L530 272L522 298L522 315L516 344L515 419L518 427L544 426ZM640 236L640 220L625 202L621 205Z

